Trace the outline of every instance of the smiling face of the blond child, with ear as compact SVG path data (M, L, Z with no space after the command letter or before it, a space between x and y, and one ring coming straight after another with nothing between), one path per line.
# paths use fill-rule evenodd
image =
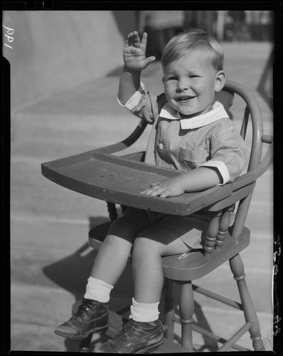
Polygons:
M163 80L168 103L181 117L190 117L211 109L215 91L225 84L225 74L213 67L203 49L198 49L169 63Z

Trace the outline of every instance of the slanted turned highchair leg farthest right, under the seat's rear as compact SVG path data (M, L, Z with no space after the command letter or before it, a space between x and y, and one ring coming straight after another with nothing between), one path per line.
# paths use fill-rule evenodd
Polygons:
M247 289L242 258L240 258L240 255L237 254L233 258L230 258L229 263L231 271L234 274L235 281L237 281L237 288L240 293L245 320L252 323L249 330L250 338L252 339L252 347L254 347L256 351L263 351L265 350L265 347L262 342L262 335L260 335L260 323L257 319L257 314L255 312L252 299L250 298L249 290Z

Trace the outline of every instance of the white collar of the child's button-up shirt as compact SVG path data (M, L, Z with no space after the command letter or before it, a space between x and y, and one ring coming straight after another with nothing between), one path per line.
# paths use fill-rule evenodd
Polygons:
M204 114L191 117L190 119L182 119L180 113L173 109L169 103L166 103L161 109L160 116L169 120L180 120L181 128L183 130L194 129L196 127L203 127L219 119L229 117L225 108L219 101L215 101L213 108Z

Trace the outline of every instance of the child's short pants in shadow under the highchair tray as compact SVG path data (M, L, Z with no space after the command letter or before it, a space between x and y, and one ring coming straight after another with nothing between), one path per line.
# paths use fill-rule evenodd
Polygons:
M124 216L114 221L108 234L129 234L136 237L144 230L151 232L148 229L155 226L152 229L153 238L154 234L159 236L170 234L176 239L181 239L190 249L199 249L203 248L208 224L208 219L202 219L193 214L180 216L127 207Z

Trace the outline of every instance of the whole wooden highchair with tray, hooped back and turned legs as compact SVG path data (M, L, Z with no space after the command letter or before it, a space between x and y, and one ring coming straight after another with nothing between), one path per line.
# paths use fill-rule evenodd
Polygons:
M252 93L242 85L228 80L225 88L217 93L217 99L225 106L230 119L233 120L230 108L235 95L243 100L245 106L240 135L244 139L246 138L249 124L252 130L252 139L250 143L246 140L247 145L250 145L247 172L235 179L233 183L213 187L204 192L185 193L166 199L140 194L139 192L148 187L151 182L160 182L168 177L181 174L173 169L145 164L143 162L144 152L119 157L112 155L137 141L146 127L146 122L143 121L139 122L132 135L122 142L42 164L43 175L53 182L90 197L107 201L110 221L95 226L89 234L89 244L96 249L100 248L111 222L117 219L115 204L121 205L122 211L126 209L126 206L178 215L205 211L210 222L208 229L205 229L203 250L162 258L166 300L165 335L168 340L173 340L173 320L175 318L172 283L181 285L178 308L182 349L181 351L178 349L176 352L193 352L193 330L223 344L218 348L218 351L226 351L231 348L246 351L246 348L237 345L236 342L247 332L250 333L253 349L264 350L260 325L245 282L245 271L240 252L250 244L250 230L245 227L245 220L257 178L264 174L272 163L273 138L263 135L262 115ZM269 147L265 157L262 158L264 143ZM230 226L231 212L235 214L232 226ZM205 226L206 224L205 222ZM130 260L131 256L129 256L129 262ZM237 283L241 303L218 295L214 291L193 285L193 281L214 271L226 261L229 262L233 278ZM214 335L210 330L199 327L193 320L194 292L240 310L245 316L245 324L228 340ZM227 323L231 323L230 318ZM88 350L87 347L85 340L82 350ZM172 350L170 348L170 351L167 352L172 352Z

